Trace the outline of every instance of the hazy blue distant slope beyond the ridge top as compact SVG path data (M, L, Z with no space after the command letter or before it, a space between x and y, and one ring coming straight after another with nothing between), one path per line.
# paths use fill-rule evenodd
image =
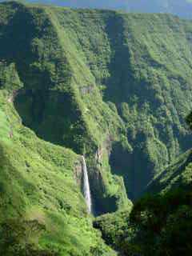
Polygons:
M141 13L170 13L181 16L182 18L192 18L192 4L190 0L152 0L150 2L147 0L28 0L28 2L38 2L73 8L117 9Z

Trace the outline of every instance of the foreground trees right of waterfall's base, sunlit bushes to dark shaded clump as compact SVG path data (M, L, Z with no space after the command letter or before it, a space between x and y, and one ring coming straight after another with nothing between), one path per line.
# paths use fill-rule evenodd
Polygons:
M145 196L134 204L131 213L102 215L95 219L94 227L122 255L190 255L191 190Z

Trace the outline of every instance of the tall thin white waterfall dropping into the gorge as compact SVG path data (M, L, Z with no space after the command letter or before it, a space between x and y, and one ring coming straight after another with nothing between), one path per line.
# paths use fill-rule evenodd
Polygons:
M86 159L82 156L82 169L83 169L83 194L86 198L86 206L89 213L91 213L91 195L90 195L90 182L86 170Z

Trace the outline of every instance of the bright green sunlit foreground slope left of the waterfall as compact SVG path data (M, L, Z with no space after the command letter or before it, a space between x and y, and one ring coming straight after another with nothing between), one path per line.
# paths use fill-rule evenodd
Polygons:
M0 81L3 80L1 77ZM4 85L10 86L10 81ZM3 238L9 232L6 228L2 233L4 223L10 225L11 235L14 232L19 235L19 229L30 230L30 223L38 222L45 226L45 231L33 244L35 241L40 251L58 252L38 255L116 255L102 242L87 214L81 193L82 157L42 141L22 126L8 88L0 90L0 108L0 253L13 255L3 249ZM32 226L26 233L25 243L36 229ZM6 242L6 247L7 244L11 247L11 240ZM14 255L21 256L18 246L17 243L13 247Z

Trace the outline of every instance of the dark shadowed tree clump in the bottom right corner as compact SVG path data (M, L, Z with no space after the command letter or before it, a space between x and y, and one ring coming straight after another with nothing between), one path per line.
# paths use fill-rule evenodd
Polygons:
M190 202L191 192L185 190L174 190L137 202L130 214L137 250L147 256L190 255Z

